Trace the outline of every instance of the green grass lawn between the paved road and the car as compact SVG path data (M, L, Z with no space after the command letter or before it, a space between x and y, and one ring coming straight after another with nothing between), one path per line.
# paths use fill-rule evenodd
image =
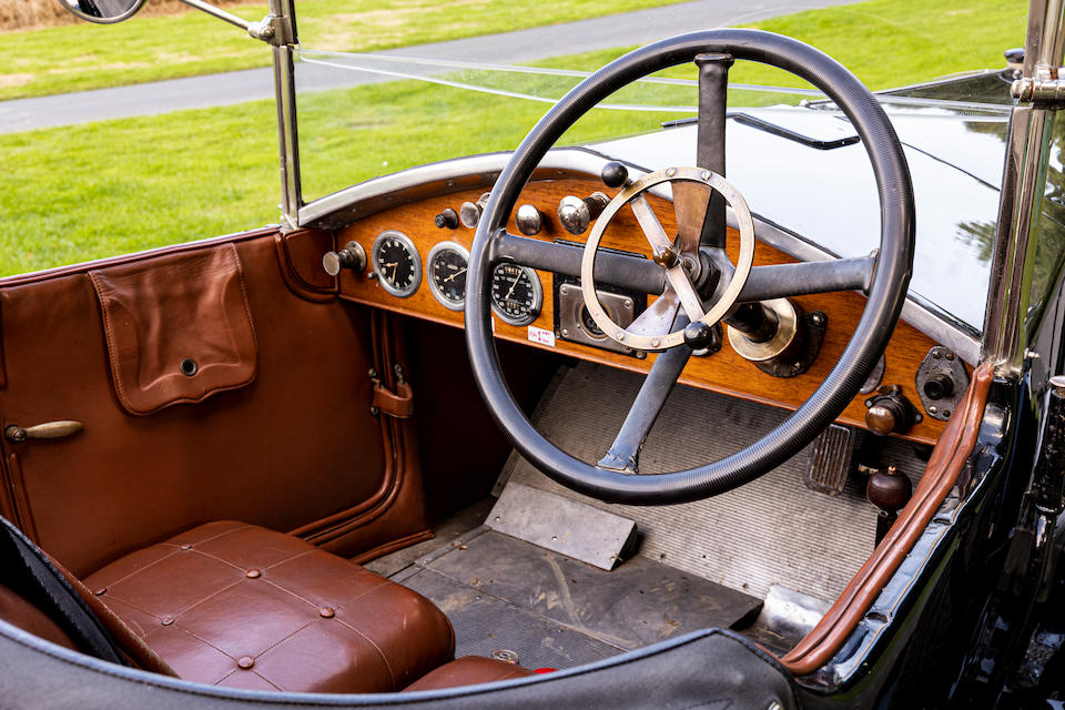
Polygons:
M1001 65L1002 50L1022 43L1024 4L977 0L962 12L946 3L874 0L759 26L821 47L871 87L884 88ZM545 63L595 68L620 52ZM784 81L757 67L737 67L732 75ZM301 104L305 192L510 149L546 108L409 81L314 94ZM663 118L676 115L595 111L568 138L632 133ZM272 102L254 102L0 135L10 166L0 173L0 274L275 222L274 121Z

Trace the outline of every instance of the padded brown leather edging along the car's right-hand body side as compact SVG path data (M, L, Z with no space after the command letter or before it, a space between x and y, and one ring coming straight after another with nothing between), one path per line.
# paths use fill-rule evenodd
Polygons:
M913 498L821 621L780 659L792 674L810 673L835 655L913 549L976 445L993 376L990 364L976 368L968 392L936 444Z

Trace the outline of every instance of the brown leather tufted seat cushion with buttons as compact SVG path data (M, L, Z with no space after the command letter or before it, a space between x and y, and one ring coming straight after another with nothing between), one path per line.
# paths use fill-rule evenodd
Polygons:
M84 580L186 680L293 692L400 690L454 656L429 600L300 540L209 523Z

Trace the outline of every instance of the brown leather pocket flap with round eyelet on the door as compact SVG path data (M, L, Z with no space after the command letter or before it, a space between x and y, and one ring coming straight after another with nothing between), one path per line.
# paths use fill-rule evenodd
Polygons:
M257 348L236 248L168 254L89 272L126 412L201 402L255 378Z

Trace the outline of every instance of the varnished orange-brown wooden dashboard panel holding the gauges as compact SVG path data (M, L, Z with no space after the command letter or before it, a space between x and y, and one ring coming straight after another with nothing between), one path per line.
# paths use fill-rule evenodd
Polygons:
M590 179L561 179L531 182L526 186L518 204L531 203L544 215L544 227L534 237L546 241L567 240L584 242L586 235L574 236L566 232L558 222L556 209L559 200L567 195L587 196L595 191L601 191L612 196L616 190L605 189L602 183ZM361 273L343 270L341 273L341 297L363 303L396 313L419 318L445 323L457 327L463 326L463 313L450 311L436 301L427 284L424 274L429 250L442 241L450 241L467 250L474 237L474 230L459 225L457 229L439 229L434 224L434 217L446 207L458 211L463 202L476 202L481 190L455 192L444 196L427 197L420 202L394 207L366 216L351 226L338 230L336 245L343 246L349 241L362 244L366 253L371 253L374 240L386 230L396 230L407 235L415 244L422 258L423 277L418 290L408 297L396 297L387 293L373 277L369 266ZM667 233L676 234L676 217L672 204L667 200L648 195L659 221ZM510 232L518 230L513 217ZM733 263L739 239L730 234L729 246ZM650 247L643 233L640 231L631 212L622 210L611 222L602 241L602 246L649 254ZM795 260L787 254L758 243L754 264L779 264ZM650 353L646 358L611 353L598 347L581 345L565 341L560 337L546 338L545 331L554 334L555 314L552 294L552 274L537 272L544 288L542 308L529 326L514 326L494 317L497 337L525 343L532 347L551 349L581 359L606 363L635 372L647 372L655 361L656 354ZM653 297L651 297L653 300ZM720 352L707 357L692 357L684 368L681 382L696 387L721 392L764 404L794 409L813 393L829 371L839 359L851 334L858 324L865 297L859 293L830 293L792 298L805 312L822 311L828 315L824 342L820 354L809 371L795 377L779 378L759 371L752 363L740 357L729 345L728 337ZM550 341L554 341L554 344ZM547 341L547 342L542 342ZM885 352L885 367L881 381L882 385L899 385L902 394L920 407L920 399L915 392L914 375L917 366L936 343L923 333L906 323L900 322L892 335ZM844 409L839 420L843 424L865 428L865 398L869 395L859 395ZM934 443L943 430L945 423L925 416L903 435L903 438Z

